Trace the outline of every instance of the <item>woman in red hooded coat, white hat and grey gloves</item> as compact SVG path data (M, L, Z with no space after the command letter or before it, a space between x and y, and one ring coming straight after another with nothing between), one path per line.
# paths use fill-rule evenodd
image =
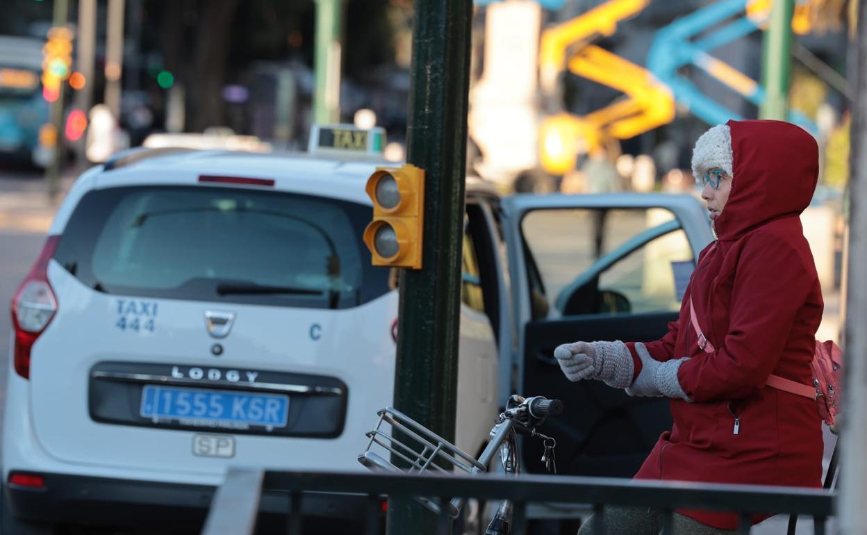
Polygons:
M668 334L649 343L570 343L555 356L571 381L671 398L674 427L636 479L821 486L816 401L766 386L770 375L812 384L824 305L799 215L816 188L816 141L786 122L728 121L696 142L693 172L717 238L701 251ZM710 352L700 347L690 304ZM612 508L604 519L618 535L659 532L647 508ZM678 511L675 533L728 533L737 520Z

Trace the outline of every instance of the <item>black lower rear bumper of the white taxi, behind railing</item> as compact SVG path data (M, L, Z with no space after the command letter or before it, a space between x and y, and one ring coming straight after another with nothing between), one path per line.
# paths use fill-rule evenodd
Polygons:
M3 489L16 517L52 524L200 527L215 491L213 486L60 473L41 475L45 478L42 489L13 485ZM307 494L302 502L305 526L311 522L349 529L366 518L368 505L366 496ZM264 493L260 512L265 514L260 515L260 522L285 522L279 517L288 511L288 495Z

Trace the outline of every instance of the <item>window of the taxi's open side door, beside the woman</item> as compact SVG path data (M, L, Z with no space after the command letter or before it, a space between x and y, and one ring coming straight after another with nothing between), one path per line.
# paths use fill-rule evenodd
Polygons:
M678 310L694 267L662 208L540 209L521 231L534 319Z

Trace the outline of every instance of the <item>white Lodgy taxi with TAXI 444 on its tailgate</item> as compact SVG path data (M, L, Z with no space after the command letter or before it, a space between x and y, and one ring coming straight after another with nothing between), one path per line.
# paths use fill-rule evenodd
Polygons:
M363 470L394 390L397 290L361 239L365 179L387 164L164 148L83 173L12 303L3 534L194 525L230 464ZM469 189L471 212L492 194ZM498 402L500 317L466 243L457 441L475 452ZM345 497L304 513L363 518Z

